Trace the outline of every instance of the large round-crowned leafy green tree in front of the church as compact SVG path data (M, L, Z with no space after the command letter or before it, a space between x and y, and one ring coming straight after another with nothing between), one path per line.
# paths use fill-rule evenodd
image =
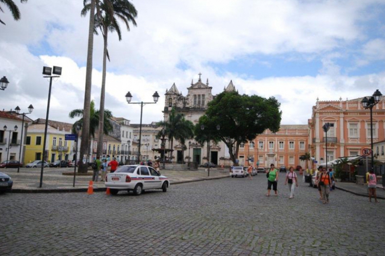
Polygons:
M258 134L269 129L279 130L282 112L274 98L257 95L240 95L237 92L222 92L208 103L205 115L199 118L195 132L198 140L210 131L210 139L222 140L228 147L230 158L236 163L242 142L254 140ZM200 125L208 130L200 130ZM220 130L216 126L220 125Z

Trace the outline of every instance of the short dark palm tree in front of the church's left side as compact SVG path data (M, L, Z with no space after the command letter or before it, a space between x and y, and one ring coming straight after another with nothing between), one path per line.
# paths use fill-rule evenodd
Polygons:
M194 137L194 124L186 120L183 114L177 113L174 107L171 109L168 120L160 121L157 125L163 127L171 149L174 148L174 139L185 145L186 139ZM157 137L162 137L162 131L158 133ZM172 159L172 151L170 158Z

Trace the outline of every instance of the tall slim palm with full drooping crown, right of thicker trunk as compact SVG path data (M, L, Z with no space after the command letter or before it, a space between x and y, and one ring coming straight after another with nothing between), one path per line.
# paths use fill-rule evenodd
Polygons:
M82 10L82 14L87 13L89 4L86 4L90 0L85 0L84 8ZM129 22L131 22L134 26L137 26L135 21L135 17L137 17L138 12L135 7L128 2L128 0L104 0L98 1L97 3L97 15L95 15L95 34L98 34L97 28L99 28L103 35L104 41L104 49L103 49L103 73L102 73L102 89L100 93L100 118L99 118L99 141L98 141L98 150L97 155L100 156L103 147L103 122L104 122L104 101L105 101L105 88L106 88L106 62L107 58L109 58L108 50L107 50L107 38L108 31L114 32L116 31L119 37L119 40L122 40L122 34L120 30L120 26L117 21L117 17L120 18L127 27L127 30L130 30Z

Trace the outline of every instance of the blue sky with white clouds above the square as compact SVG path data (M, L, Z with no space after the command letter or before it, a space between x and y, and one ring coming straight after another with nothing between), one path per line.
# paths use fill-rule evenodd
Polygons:
M89 15L80 0L30 0L13 20L1 4L0 109L18 105L45 118L49 79L44 66L62 67L52 82L49 119L73 123L83 109ZM137 27L109 33L105 109L131 123L163 119L166 89L185 96L191 79L209 81L213 95L230 80L240 94L275 97L281 124L307 124L319 100L385 94L385 0L132 0ZM99 109L103 37L94 36L91 99Z

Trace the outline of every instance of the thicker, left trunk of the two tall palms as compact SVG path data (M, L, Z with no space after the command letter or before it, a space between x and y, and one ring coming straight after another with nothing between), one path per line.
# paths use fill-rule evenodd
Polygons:
M79 173L87 173L88 160L83 164L83 158L88 158L89 153L89 124L90 124L90 102L91 102L91 81L92 81L92 52L93 52L93 25L95 15L95 1L91 0L91 9L89 15L88 28L88 51L87 51L87 68L86 68L86 88L84 92L83 106L83 125L82 125L82 141L80 145L80 164Z

